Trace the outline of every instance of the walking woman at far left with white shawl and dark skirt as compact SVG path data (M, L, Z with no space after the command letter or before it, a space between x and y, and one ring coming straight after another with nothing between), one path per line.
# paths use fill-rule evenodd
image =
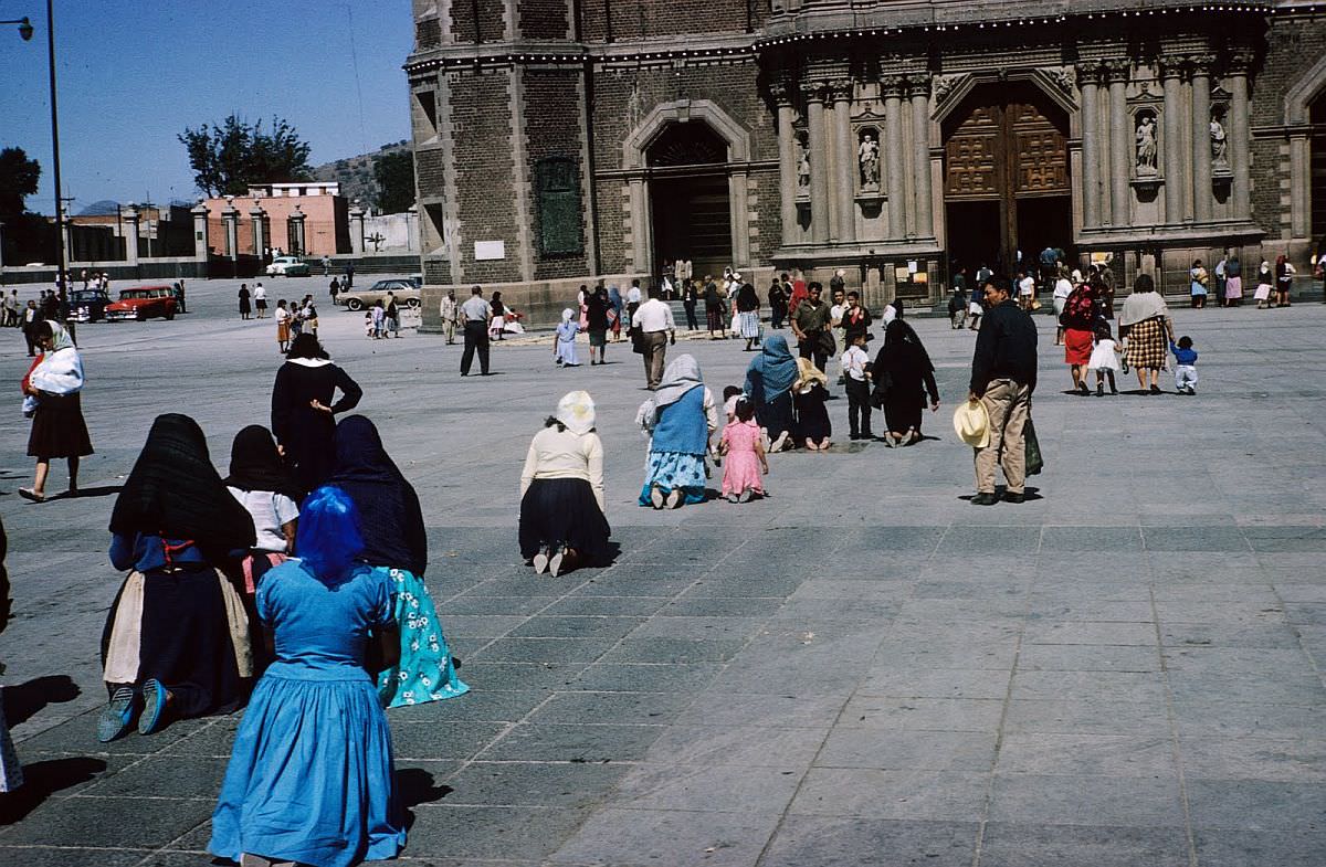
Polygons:
M32 411L28 455L37 459L30 488L19 496L33 502L46 498L46 475L54 457L69 460L69 496L78 496L78 459L91 455L91 439L82 416L82 358L74 341L58 322L37 323L41 357L23 378L24 410Z

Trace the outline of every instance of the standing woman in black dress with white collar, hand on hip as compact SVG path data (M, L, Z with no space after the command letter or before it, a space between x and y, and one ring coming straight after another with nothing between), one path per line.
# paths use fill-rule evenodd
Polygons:
M308 493L332 475L335 415L358 406L363 390L332 363L313 334L296 337L285 358L272 386L272 432L285 449L294 484ZM333 403L337 388L341 399Z

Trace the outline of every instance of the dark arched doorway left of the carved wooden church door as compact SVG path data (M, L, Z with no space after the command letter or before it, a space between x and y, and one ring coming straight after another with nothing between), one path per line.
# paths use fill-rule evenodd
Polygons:
M696 277L731 265L728 143L703 121L663 127L644 152L654 261L691 260Z

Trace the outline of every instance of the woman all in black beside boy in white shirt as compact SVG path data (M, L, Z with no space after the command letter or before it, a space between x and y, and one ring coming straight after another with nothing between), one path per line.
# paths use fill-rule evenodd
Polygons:
M922 410L930 396L931 412L939 410L935 366L916 331L902 317L884 329L884 345L871 367L875 379L873 403L884 411L884 444L890 448L919 443Z

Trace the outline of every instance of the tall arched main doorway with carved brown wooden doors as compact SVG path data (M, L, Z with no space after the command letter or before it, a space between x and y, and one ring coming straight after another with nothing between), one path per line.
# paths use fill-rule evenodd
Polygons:
M948 251L964 266L1016 268L1073 244L1069 118L1032 82L976 86L944 135Z

